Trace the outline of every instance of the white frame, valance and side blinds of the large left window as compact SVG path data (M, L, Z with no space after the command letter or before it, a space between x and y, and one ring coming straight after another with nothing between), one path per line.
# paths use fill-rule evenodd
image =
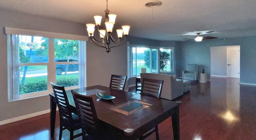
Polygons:
M34 97L40 97L48 95L52 93L52 87L50 85L50 81L56 83L56 65L58 63L54 62L54 38L59 39L72 39L79 41L79 61L78 62L62 62L61 64L68 63L78 63L79 64L79 85L73 87L67 87L66 90L69 89L76 89L86 87L86 41L88 41L87 36L82 35L71 35L71 34L60 34L54 32L43 32L43 31L35 31L35 30L26 30L26 29L18 29L18 28L8 28L6 27L6 34L7 34L7 44L8 44L8 102L11 101L18 101L23 99L29 99ZM14 36L15 37L12 37ZM18 41L18 35L30 35L30 36L42 36L48 37L48 63L19 63L19 59L15 60L13 55L18 55L19 46L18 44L12 44L12 41ZM51 47L50 47L51 46ZM16 53L16 52L17 53ZM15 52L15 53L13 53ZM20 75L17 71L19 71L20 66L30 66L30 65L47 65L47 90L35 93L27 93L27 94L17 94L19 93L19 82L20 82ZM16 67L18 66L18 68ZM54 71L54 73L53 73ZM13 76L15 80L13 80ZM18 78L17 78L18 77ZM17 85L17 86L15 86ZM12 87L16 88L12 88ZM15 94L16 93L16 94Z

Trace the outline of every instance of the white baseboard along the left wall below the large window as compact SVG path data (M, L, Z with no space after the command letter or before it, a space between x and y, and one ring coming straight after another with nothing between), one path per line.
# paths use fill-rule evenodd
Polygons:
M58 106L56 108L56 111L57 110L59 110ZM32 114L27 114L27 115L24 115L24 116L18 116L16 118L10 118L10 119L7 119L7 120L2 120L2 121L0 121L0 125L16 122L16 121L19 121L19 120L24 120L24 119L27 119L27 118L32 118L32 117L39 116L39 115L46 114L46 113L50 113L50 109L40 111L40 112L35 112L35 113L32 113Z

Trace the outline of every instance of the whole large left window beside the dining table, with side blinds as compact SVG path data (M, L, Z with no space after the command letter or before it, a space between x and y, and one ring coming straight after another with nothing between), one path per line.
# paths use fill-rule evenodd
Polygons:
M85 41L8 34L8 101L85 86Z

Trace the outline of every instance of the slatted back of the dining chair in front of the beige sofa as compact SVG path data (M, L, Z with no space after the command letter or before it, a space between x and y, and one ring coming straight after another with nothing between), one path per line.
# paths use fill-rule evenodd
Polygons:
M143 78L141 85L141 94L157 97L159 99L161 97L163 83L163 80Z

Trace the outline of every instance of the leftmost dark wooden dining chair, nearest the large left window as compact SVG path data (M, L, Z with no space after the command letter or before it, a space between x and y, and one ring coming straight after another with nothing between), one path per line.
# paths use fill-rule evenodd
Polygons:
M68 97L64 86L56 85L51 82L54 95L57 99L57 105L60 114L60 136L59 140L62 138L62 131L67 129L70 131L70 140L82 136L82 133L74 135L74 131L82 128L81 120L78 115L74 114L68 102Z

